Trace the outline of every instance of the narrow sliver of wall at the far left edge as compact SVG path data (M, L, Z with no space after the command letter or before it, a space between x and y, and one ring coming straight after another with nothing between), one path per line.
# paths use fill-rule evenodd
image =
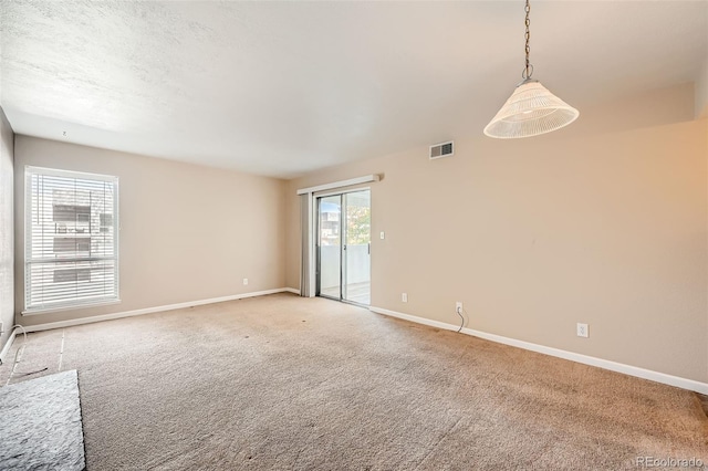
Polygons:
M6 344L14 321L14 252L12 232L12 192L14 134L0 108L0 349Z

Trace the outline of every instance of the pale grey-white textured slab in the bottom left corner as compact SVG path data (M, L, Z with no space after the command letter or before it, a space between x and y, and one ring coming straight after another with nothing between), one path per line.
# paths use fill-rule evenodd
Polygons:
M0 469L85 468L76 370L0 388Z

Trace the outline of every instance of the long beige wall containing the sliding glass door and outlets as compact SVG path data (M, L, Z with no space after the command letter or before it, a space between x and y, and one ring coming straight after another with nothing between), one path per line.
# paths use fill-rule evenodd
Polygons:
M300 278L295 190L382 174L372 305L457 324L462 301L473 329L707 381L708 127L693 117L688 85L555 134L476 130L450 158L421 147L292 180L287 283Z

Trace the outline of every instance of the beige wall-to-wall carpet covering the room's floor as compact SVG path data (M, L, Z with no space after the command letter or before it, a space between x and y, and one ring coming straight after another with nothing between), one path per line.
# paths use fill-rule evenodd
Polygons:
M32 334L17 369L49 370L10 383L56 371L62 342L88 470L708 464L693 393L327 300L279 294Z

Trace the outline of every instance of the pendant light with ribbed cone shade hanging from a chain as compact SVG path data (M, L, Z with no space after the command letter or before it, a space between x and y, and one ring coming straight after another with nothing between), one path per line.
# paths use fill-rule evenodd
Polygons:
M485 134L499 139L531 137L560 129L574 122L580 113L549 92L541 82L531 80L533 65L529 62L529 12L527 0L527 63L521 74L523 81L517 85L497 116L485 127Z

